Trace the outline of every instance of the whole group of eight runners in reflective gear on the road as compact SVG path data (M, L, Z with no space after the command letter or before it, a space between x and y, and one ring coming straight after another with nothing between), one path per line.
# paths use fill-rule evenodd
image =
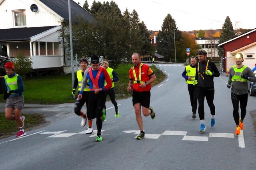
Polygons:
M127 91L132 91L132 104L135 110L136 121L140 129L140 133L136 139L142 139L145 136L142 114L145 117L150 116L155 119L156 113L152 106L150 106L150 90L151 83L156 81L156 75L152 69L141 62L140 54L132 54L133 67L129 70L129 84ZM198 103L198 115L200 118L199 131L206 129L204 121L204 99L210 107L210 126L215 125L215 106L214 106L214 79L219 77L220 73L216 65L206 59L207 53L204 50L198 51L198 63L196 57L190 57L190 65L185 67L182 76L188 84L188 92L190 95L190 103L192 106L192 119L196 118L196 110ZM231 87L231 101L233 104L233 117L236 123L235 134L240 134L240 130L244 127L244 117L246 115L246 105L248 100L248 86L247 81L256 82L256 77L252 70L243 65L243 56L241 53L235 56L236 65L230 69L230 75L227 87ZM76 72L72 95L76 94L78 87L78 97L75 102L74 113L80 116L81 126L86 125L88 119L88 130L86 134L93 132L92 120L96 118L97 137L96 141L102 141L101 129L102 122L106 121L106 97L109 95L111 102L115 108L115 117L118 118L120 113L118 105L115 100L114 82L118 81L118 76L114 69L109 67L109 61L103 59L102 66L100 66L100 59L98 55L92 55L90 59L90 67L88 68L88 60L80 59L81 70ZM5 117L8 120L16 121L19 131L16 137L26 135L24 132L25 117L21 116L21 111L24 106L24 98L22 95L24 85L20 75L14 71L12 62L7 62L5 65L6 74L4 76L6 83L6 99ZM86 103L86 113L81 109ZM238 113L239 103L241 108L241 117ZM13 115L14 112L14 115Z

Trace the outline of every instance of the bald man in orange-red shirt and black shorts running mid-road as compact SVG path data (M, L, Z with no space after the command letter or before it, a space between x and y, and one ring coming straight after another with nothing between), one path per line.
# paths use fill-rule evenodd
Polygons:
M149 115L152 119L156 117L153 108L150 107L150 84L156 81L156 75L148 65L141 63L140 54L132 54L132 63L134 67L129 71L127 91L132 89L132 104L135 109L136 121L140 128L140 134L136 136L136 139L142 139L145 136L145 132L141 117L141 106L145 117Z

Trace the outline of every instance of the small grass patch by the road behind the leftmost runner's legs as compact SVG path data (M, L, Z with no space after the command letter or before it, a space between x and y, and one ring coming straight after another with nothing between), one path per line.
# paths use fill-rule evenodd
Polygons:
M26 117L24 130L31 127L36 127L40 123L43 123L44 117L39 114L22 114ZM16 121L9 121L4 117L4 113L0 113L0 138L11 135L14 132L17 132L19 129L17 127Z

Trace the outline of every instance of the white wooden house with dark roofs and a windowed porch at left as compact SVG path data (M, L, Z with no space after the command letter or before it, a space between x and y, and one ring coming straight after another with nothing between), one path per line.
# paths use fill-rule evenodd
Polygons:
M72 20L95 19L71 0ZM9 57L31 57L33 70L70 67L70 56L60 38L68 21L68 0L0 0L0 47Z

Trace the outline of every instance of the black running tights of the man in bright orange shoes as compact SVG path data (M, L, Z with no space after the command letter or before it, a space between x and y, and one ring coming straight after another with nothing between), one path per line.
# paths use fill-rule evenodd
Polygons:
M248 93L243 95L236 95L235 93L231 93L231 101L233 104L233 117L236 125L239 125L239 102L241 108L241 120L244 120L246 115L246 106L248 101Z

